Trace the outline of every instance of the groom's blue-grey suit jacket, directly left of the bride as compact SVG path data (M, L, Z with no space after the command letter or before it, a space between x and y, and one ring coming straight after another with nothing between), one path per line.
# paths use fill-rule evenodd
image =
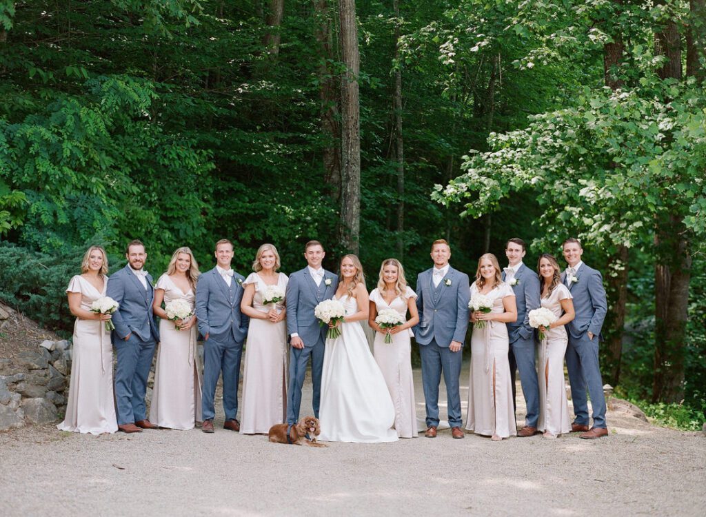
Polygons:
M330 285L326 285L330 280ZM287 283L287 333L297 333L304 346L313 347L319 339L325 340L327 328L319 326L313 311L319 302L333 298L338 287L338 275L324 270L321 285L317 287L309 268L289 275Z

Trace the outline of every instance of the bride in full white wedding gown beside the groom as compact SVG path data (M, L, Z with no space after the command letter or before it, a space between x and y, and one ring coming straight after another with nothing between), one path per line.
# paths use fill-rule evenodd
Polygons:
M341 335L326 340L321 376L321 441L397 441L395 405L368 346L360 321L368 319L369 298L357 256L341 260L342 281L334 299L346 316Z

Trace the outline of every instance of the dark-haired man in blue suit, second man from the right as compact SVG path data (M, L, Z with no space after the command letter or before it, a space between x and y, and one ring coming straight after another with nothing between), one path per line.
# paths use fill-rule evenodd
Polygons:
M522 263L527 253L525 241L517 237L505 244L508 267L503 271L503 282L513 287L517 303L517 321L507 323L510 337L510 374L513 380L513 403L515 403L515 374L520 370L520 384L527 403L525 427L517 431L517 436L533 436L537 433L539 420L539 383L537 368L534 366L534 328L530 326L530 311L541 307L539 302L539 277ZM515 405L515 410L517 405Z

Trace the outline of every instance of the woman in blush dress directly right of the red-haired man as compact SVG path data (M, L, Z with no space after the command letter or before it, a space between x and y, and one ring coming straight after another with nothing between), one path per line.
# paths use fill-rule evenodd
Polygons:
M471 299L476 293L489 297L489 313L471 313L471 374L468 381L468 420L466 429L500 441L517 435L513 408L512 377L508 351L508 327L517 320L515 293L501 280L498 259L491 253L481 256ZM483 328L475 323L484 322Z

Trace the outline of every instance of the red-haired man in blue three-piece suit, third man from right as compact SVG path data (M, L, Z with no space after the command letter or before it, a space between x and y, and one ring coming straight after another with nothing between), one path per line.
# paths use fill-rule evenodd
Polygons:
M444 239L431 245L434 266L417 277L419 325L414 338L421 356L421 383L426 402L426 436L436 437L439 384L443 373L448 397L451 436L463 438L459 378L463 342L468 328L468 275L448 263L451 248Z

